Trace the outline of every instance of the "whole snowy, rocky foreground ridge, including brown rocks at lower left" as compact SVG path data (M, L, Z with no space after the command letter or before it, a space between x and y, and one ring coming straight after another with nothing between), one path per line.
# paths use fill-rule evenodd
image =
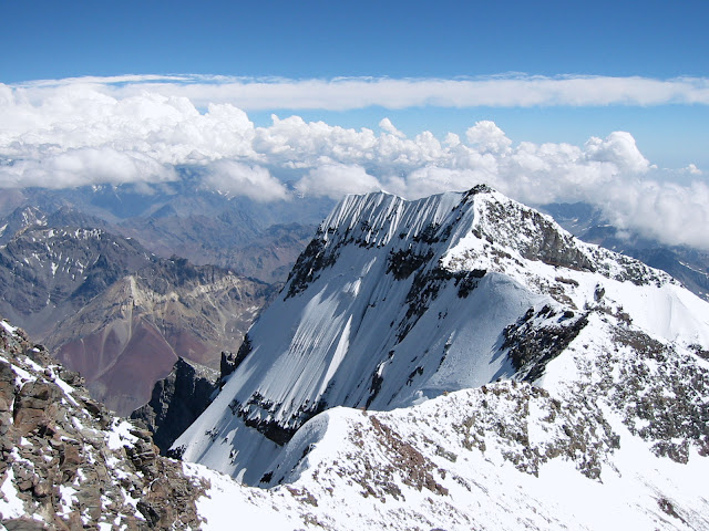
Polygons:
M709 525L706 438L691 430L706 413L708 371L688 351L608 356L608 337L582 332L569 348L583 355L569 360L572 371L593 373L584 393L500 382L389 413L336 407L285 445L265 481L274 487L263 489L157 456L150 436L91 400L75 373L0 324L0 529ZM568 373L557 362L547 378ZM674 382L674 397L661 397L672 423L619 407L612 367L648 397ZM678 377L688 368L698 372ZM670 427L678 431L662 431ZM658 458L667 437L685 452Z

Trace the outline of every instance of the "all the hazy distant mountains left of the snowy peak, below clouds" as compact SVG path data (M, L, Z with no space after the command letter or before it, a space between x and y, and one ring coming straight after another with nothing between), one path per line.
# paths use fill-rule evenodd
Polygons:
M311 238L317 205L269 207L189 176L10 190L0 201L0 311L127 415L178 357L218 366L222 350L238 350Z

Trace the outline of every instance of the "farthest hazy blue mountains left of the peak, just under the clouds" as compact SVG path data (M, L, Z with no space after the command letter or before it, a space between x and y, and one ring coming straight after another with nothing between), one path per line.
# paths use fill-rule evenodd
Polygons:
M202 189L185 175L163 185L12 190L0 201L0 244L24 227L101 228L151 252L219 266L265 282L286 279L332 207L329 199L259 204Z

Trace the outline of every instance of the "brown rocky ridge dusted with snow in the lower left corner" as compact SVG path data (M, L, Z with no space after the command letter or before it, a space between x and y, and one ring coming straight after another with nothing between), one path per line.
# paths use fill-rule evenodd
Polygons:
M3 529L198 529L208 483L90 398L82 378L0 322Z

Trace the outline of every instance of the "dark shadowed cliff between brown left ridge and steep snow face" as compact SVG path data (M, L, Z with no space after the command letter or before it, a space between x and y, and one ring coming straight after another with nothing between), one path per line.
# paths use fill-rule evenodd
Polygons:
M175 439L204 412L218 388L219 373L178 358L169 374L155 383L151 400L133 412L153 433L165 455Z

